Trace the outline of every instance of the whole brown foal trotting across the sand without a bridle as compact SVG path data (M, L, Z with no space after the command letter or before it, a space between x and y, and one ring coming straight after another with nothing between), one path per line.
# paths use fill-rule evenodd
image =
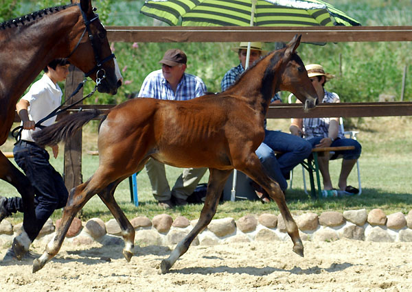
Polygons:
M133 256L135 230L113 194L119 182L140 171L150 157L174 167L209 167L210 171L201 217L170 257L163 260L163 273L209 224L233 169L246 173L275 200L293 241L293 251L303 256L304 246L284 194L255 155L264 138L264 118L275 92L292 92L304 103L306 110L315 106L317 94L304 63L295 52L299 43L300 36L295 36L284 49L269 53L222 93L189 101L133 99L116 106L108 114L99 111L71 114L38 132L37 143L54 144L71 136L76 128L91 119L102 119L98 170L87 182L71 190L56 235L41 257L34 260L33 272L58 253L76 213L96 193L122 229L123 254L129 261Z

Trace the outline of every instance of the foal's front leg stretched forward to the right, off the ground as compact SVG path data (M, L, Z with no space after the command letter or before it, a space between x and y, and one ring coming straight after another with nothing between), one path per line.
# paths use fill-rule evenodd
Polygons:
M286 230L293 241L293 252L304 256L304 245L299 236L299 229L290 214L289 208L286 205L286 200L282 189L279 184L275 182L264 170L262 163L257 156L251 155L248 160L248 166L241 171L249 176L252 180L260 184L262 188L268 193L268 195L279 206L280 213L285 222Z

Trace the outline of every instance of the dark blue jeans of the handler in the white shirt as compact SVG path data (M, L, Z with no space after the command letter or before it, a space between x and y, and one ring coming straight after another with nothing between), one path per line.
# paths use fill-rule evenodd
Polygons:
M62 176L49 163L49 153L29 141L20 141L13 149L14 160L34 187L37 234L54 210L66 206L68 192ZM8 198L9 212L23 212L21 197Z

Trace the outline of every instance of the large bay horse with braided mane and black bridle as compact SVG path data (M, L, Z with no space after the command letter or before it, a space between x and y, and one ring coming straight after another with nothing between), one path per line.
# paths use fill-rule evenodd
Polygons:
M67 57L93 80L100 78L100 92L117 92L120 82L106 30L93 12L91 0L74 2L0 23L0 145L8 138L16 102L55 58ZM21 258L36 234L34 191L1 151L0 178L10 182L23 198L25 232L13 242L14 252Z

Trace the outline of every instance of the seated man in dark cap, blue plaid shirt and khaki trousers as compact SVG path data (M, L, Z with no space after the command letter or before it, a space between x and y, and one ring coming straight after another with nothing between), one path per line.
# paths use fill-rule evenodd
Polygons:
M141 85L139 97L155 99L187 100L206 94L206 86L201 78L185 73L187 57L180 49L165 52L160 70L153 71ZM173 208L187 204L189 197L207 168L183 169L172 191L166 178L165 165L150 158L146 171L152 184L152 193L163 208Z

